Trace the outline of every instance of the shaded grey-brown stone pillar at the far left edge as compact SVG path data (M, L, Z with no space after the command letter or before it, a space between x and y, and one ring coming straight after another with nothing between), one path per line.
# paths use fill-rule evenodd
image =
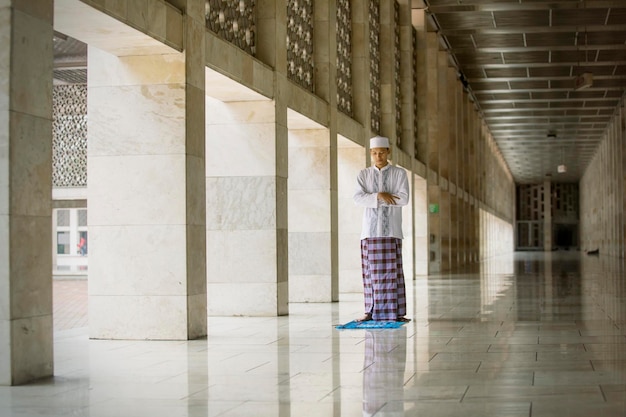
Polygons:
M0 7L0 385L53 374L51 0Z

